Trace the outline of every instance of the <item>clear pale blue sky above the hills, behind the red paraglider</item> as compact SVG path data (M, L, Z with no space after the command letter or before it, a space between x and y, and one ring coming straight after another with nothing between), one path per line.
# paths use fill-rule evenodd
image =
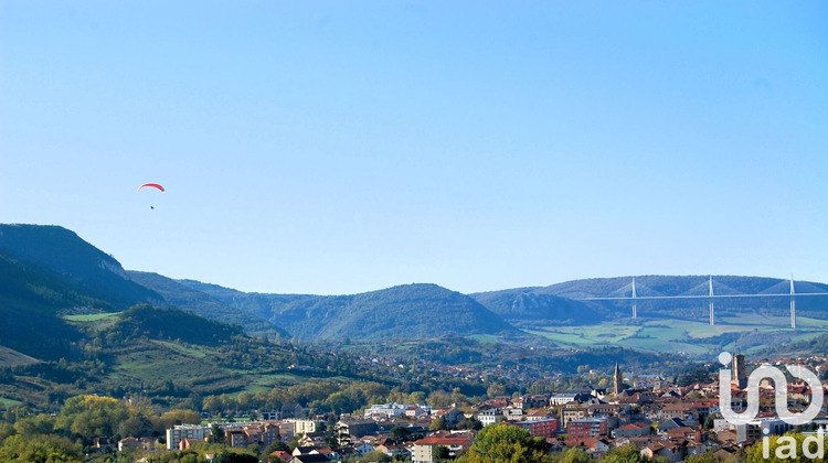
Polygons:
M0 222L243 291L827 282L827 20L825 1L2 0Z

